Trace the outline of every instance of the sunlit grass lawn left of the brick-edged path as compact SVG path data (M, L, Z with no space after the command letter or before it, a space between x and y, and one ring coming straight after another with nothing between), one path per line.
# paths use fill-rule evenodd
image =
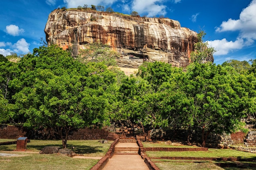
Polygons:
M13 139L2 141L13 141ZM98 140L69 140L67 148L72 148L77 154L83 154L87 157L103 157L110 148L113 141L108 144L101 144ZM43 155L39 151L45 146L62 146L62 142L49 140L30 140L27 143L27 151L29 152L7 152L17 156L0 156L0 170L90 170L99 159L80 159L71 158L65 155ZM0 146L0 152L13 151L16 144Z

